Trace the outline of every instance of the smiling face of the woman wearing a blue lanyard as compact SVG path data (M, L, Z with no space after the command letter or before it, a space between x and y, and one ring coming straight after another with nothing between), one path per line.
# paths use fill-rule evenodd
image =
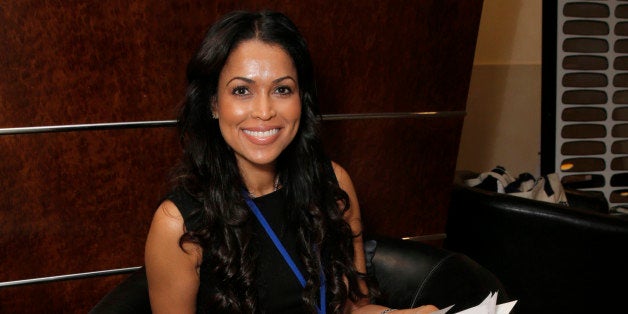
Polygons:
M297 70L277 45L240 43L220 72L213 113L238 166L274 165L299 128Z

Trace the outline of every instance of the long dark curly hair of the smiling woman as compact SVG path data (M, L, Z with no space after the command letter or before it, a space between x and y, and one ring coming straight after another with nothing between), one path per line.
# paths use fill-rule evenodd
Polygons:
M239 43L252 39L283 48L297 70L300 127L278 157L276 169L285 189L289 219L297 226L300 258L306 268L302 298L315 312L322 267L327 309L342 312L347 298L365 297L358 286L363 274L353 260L352 242L358 235L343 219L349 198L329 171L330 161L320 141L316 86L306 42L281 13L237 11L224 16L209 29L188 64L187 94L178 120L184 153L175 178L178 187L202 204L202 227L187 230L180 244L192 242L203 249L203 263L214 278L214 292L203 300L209 308L230 313L260 311L249 224L252 216L242 195L245 185L233 150L211 117L218 78L229 54Z

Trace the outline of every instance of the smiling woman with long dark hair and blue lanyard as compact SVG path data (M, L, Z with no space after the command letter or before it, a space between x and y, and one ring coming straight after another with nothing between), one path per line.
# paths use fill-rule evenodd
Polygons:
M153 312L392 311L368 302L355 190L323 152L293 23L225 16L187 78L184 157L146 242Z

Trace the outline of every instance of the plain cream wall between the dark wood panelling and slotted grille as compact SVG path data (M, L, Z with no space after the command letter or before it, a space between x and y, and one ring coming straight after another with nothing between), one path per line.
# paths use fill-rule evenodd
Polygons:
M456 168L540 174L542 0L484 0Z

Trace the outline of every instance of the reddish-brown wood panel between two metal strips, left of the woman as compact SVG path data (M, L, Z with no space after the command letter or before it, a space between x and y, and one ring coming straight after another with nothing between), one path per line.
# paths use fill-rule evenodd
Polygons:
M173 129L0 136L0 281L141 265Z

